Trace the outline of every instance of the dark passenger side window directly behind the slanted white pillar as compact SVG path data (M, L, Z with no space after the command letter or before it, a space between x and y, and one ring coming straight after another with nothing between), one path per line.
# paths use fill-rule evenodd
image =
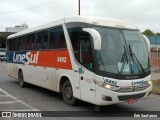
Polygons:
M50 49L64 49L66 48L66 41L62 26L51 28L50 30Z

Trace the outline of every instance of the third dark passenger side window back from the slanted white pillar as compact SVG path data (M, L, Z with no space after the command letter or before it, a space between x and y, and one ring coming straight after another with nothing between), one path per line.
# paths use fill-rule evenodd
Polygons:
M35 49L35 34L27 35L26 45L27 50Z

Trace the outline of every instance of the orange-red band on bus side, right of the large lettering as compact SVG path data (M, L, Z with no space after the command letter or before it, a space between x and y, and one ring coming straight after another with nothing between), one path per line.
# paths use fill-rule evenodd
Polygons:
M31 53L37 54L37 51ZM39 51L37 54L37 63L30 63L30 65L72 70L68 50Z

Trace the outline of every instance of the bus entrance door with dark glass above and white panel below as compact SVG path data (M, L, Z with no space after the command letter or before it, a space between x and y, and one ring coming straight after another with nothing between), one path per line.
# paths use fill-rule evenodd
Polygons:
M79 80L81 99L88 102L95 102L95 78L93 71L93 57L89 37L79 38ZM76 75L77 76L77 75Z

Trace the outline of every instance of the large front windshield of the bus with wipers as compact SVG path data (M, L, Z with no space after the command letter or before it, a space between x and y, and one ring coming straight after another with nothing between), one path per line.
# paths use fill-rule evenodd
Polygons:
M138 30L92 27L102 39L96 51L98 69L119 75L145 74L150 71L149 52Z

